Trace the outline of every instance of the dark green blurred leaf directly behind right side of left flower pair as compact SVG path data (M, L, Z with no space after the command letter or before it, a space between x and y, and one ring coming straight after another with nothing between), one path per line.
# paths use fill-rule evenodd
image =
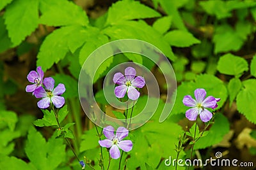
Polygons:
M55 86L58 85L58 83L63 83L65 85L65 92L63 93L63 97L65 98L72 98L72 97L78 97L78 83L77 80L74 80L71 76L68 76L67 74L55 74L52 76L55 80Z

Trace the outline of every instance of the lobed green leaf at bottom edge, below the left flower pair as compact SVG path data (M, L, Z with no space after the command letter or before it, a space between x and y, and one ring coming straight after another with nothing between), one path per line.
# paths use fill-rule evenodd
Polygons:
M55 139L52 136L52 138L46 142L42 134L37 132L34 127L29 129L25 152L31 163L37 169L53 170L65 160L65 145L63 145L63 139Z

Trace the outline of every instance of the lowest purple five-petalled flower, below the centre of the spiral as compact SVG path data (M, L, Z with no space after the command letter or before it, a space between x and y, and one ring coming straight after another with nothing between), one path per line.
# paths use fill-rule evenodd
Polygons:
M100 146L110 148L109 153L113 159L118 159L120 157L120 150L124 152L129 152L132 150L132 141L123 139L128 136L129 131L125 127L118 127L116 134L114 134L114 127L111 125L103 129L103 133L108 139L99 141Z

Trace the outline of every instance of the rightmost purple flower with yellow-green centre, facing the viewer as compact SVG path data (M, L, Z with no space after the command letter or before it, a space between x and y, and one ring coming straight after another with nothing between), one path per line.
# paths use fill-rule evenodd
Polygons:
M195 90L196 99L193 99L190 95L184 96L183 104L188 107L193 107L186 111L186 117L188 120L196 120L198 115L200 115L200 118L203 122L208 122L211 120L212 113L206 108L217 108L217 102L220 101L220 98L208 96L205 99L205 96L206 92L204 89Z

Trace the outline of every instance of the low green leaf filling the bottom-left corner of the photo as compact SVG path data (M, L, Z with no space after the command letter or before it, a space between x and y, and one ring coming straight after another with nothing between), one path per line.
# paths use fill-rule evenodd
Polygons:
M24 160L17 159L16 157L0 157L0 167L5 170L13 169L26 169L26 170L36 170L36 168L24 162Z

